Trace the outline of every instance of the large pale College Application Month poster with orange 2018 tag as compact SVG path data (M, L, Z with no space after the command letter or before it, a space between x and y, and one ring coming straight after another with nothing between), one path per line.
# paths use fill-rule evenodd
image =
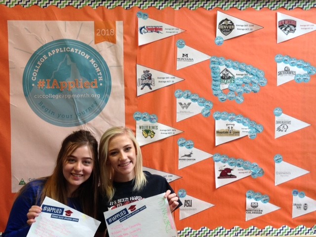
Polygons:
M17 192L52 170L72 131L87 129L99 138L125 123L123 22L21 20L7 27L11 182ZM109 37L102 39L98 29L111 29Z

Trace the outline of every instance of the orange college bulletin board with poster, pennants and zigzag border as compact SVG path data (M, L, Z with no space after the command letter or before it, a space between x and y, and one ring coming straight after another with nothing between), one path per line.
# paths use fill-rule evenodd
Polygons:
M315 7L0 1L0 232L67 134L126 125L179 237L315 236Z

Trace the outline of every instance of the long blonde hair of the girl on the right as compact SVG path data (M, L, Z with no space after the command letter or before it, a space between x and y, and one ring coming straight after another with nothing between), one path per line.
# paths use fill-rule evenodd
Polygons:
M143 158L142 152L136 138L134 136L133 131L128 127L112 127L109 128L104 132L100 140L100 147L99 147L99 162L100 162L100 188L101 194L103 196L108 197L110 201L114 196L115 189L113 187L113 178L114 178L114 169L112 168L111 164L107 162L108 160L108 150L109 144L112 138L120 136L120 135L127 135L136 151L136 164L135 164L135 179L134 179L134 191L141 190L147 183L146 176L143 173Z

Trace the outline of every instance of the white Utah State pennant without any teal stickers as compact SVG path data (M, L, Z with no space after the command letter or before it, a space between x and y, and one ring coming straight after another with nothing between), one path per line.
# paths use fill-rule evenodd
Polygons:
M137 96L172 85L184 79L137 64Z

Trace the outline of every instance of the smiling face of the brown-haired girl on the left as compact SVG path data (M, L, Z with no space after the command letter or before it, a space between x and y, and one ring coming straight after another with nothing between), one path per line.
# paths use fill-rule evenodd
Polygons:
M92 170L93 155L88 145L77 148L65 158L63 175L67 181L68 197L88 180Z

